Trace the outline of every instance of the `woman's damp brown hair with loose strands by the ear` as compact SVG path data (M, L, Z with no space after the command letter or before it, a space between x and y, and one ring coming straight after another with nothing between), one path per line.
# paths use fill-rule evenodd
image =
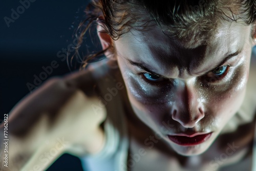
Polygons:
M76 34L77 47L83 36L99 24L104 32L117 40L122 34L135 29L141 33L151 26L159 27L170 38L205 40L214 33L220 19L243 22L255 21L256 0L92 0L86 9L87 18L80 23ZM99 18L103 15L105 19ZM254 27L252 27L254 28ZM255 30L251 30L254 35ZM113 46L83 57L82 67L101 60L104 52L115 53ZM79 56L76 48L74 56Z

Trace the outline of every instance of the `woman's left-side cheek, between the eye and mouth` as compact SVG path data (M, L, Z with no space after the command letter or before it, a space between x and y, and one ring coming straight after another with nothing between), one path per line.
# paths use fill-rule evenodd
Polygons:
M168 97L170 95L166 95L167 91L165 89L149 87L143 89L143 85L133 77L130 77L129 74L124 74L123 76L127 94L135 114L151 129L158 130L159 124L162 122L166 111L168 111Z

